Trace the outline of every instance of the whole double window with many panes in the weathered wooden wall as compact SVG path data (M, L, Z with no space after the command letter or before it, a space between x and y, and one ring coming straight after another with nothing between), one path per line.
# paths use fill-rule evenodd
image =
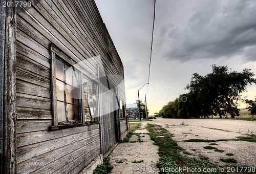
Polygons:
M51 51L54 125L98 121L98 83L69 64L74 61L56 46Z

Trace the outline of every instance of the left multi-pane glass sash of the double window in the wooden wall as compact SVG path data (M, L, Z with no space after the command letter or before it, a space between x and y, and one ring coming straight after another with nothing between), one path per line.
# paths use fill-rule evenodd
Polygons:
M81 73L56 59L58 123L81 123Z

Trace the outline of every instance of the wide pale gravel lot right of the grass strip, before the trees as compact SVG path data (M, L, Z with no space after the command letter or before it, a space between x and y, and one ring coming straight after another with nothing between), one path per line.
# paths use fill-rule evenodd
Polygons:
M144 124L145 122L143 122ZM218 145L211 145L224 152L214 149L204 149L210 143L184 142L188 139L236 139L239 136L246 137L248 134L256 135L256 122L244 120L220 120L220 119L162 119L157 118L150 123L162 125L170 133L191 157L208 157L209 161L220 166L231 166L233 163L224 163L221 158L234 158L238 166L256 167L256 143L247 141L218 141ZM185 124L185 125L181 125ZM232 153L234 156L227 156Z

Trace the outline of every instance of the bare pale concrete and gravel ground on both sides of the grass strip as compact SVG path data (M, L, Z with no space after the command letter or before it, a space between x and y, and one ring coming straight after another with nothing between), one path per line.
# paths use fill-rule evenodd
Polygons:
M210 143L184 142L188 139L236 139L248 134L256 135L256 122L244 120L220 119L162 119L141 122L143 126L154 123L166 128L173 139L190 154L190 157L208 157L210 162L220 166L231 166L233 163L224 163L220 159L233 158L238 161L238 166L256 167L256 143L247 141L218 141L214 149L204 149ZM146 130L137 130L146 133ZM134 135L135 136L135 135ZM143 135L141 135L143 136ZM114 165L112 173L157 173L153 172L159 159L158 146L153 144L148 135L141 139L143 142L120 143L111 153L111 162ZM136 140L132 137L130 141ZM226 154L232 153L229 157ZM141 163L132 163L134 160L143 160Z

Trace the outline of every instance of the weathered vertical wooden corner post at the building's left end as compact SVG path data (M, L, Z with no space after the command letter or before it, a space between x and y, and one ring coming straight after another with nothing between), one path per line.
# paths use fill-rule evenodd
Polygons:
M8 3L7 3L8 2ZM10 3L10 4L9 4ZM16 7L15 0L1 4L0 145L1 172L16 173Z

